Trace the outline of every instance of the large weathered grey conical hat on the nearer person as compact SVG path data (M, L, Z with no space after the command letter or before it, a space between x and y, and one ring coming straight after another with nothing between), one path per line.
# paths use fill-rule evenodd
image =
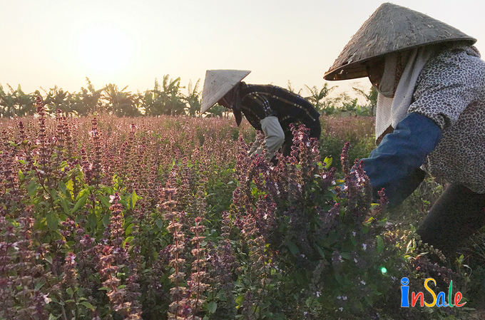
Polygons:
M382 4L362 24L325 73L325 80L347 80L367 76L364 62L384 54L419 46L475 38L458 29L396 4Z

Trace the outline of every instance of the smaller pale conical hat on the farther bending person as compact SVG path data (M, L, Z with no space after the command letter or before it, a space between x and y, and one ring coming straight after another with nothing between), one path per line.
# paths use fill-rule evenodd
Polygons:
M204 88L200 113L205 113L210 107L223 98L251 71L245 70L208 70L205 71Z

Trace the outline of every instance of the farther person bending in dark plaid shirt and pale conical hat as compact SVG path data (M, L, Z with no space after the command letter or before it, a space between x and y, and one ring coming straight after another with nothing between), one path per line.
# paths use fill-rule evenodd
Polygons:
M304 124L310 129L310 138L320 138L320 114L301 96L277 86L260 86L242 81L251 71L208 70L205 73L200 113L215 103L233 110L238 126L242 114L256 129L265 134L264 141L256 140L249 155L260 155L273 160L277 150L290 155L293 136L290 124Z

